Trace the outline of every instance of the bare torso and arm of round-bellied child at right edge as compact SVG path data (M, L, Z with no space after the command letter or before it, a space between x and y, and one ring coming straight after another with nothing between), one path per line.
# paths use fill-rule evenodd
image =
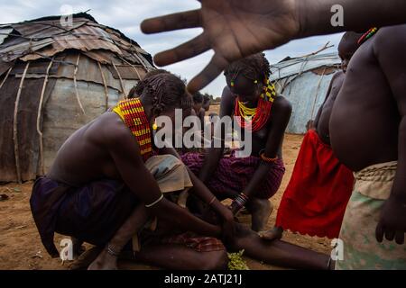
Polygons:
M380 29L355 52L330 120L331 144L353 171L398 161L392 193L376 228L404 242L406 231L406 26Z

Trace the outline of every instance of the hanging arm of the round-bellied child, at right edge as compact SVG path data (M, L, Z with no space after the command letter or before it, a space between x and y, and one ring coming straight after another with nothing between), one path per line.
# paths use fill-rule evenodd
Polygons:
M393 35L405 35L404 25L385 28ZM394 36L388 40L376 35L374 53L388 79L394 100L397 104L401 121L398 134L398 167L393 180L390 197L383 205L381 219L376 227L376 239L382 242L383 237L396 243L404 243L406 232L406 39ZM390 51L390 53L388 53ZM393 57L396 55L396 57Z

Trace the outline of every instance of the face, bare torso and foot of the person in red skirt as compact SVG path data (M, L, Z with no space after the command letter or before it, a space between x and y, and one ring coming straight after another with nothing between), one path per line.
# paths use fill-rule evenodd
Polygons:
M361 37L361 35L362 34L360 34L359 37ZM356 49L358 49L357 39L358 38L355 38L354 35L340 41L338 45L338 55L341 58L342 71L338 71L332 77L324 103L318 109L318 114L311 124L311 129L316 130L318 137L323 141L323 143L328 145L331 145L329 133L331 112L333 111L333 106L336 102L337 95L344 83L344 79L346 78L346 68L348 63L355 54ZM272 240L275 238L281 238L282 233L283 229L281 227L274 227L269 231L263 232L261 236L264 239Z

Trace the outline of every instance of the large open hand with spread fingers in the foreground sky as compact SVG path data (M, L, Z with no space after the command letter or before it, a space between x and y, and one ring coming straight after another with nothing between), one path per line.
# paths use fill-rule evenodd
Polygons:
M144 33L202 27L203 33L174 49L158 53L159 66L198 56L215 55L188 85L194 94L214 80L230 63L265 49L273 49L299 34L294 0L200 0L198 10L170 14L141 23Z

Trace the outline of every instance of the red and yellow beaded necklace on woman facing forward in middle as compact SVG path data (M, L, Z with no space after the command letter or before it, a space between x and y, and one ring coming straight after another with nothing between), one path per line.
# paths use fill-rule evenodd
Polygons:
M244 103L238 99L235 100L235 116L238 125L246 130L257 131L261 130L269 120L272 110L272 103L276 97L275 86L265 79L263 85L263 93L258 99L258 104L255 108L246 107ZM240 116L240 117L238 117Z

